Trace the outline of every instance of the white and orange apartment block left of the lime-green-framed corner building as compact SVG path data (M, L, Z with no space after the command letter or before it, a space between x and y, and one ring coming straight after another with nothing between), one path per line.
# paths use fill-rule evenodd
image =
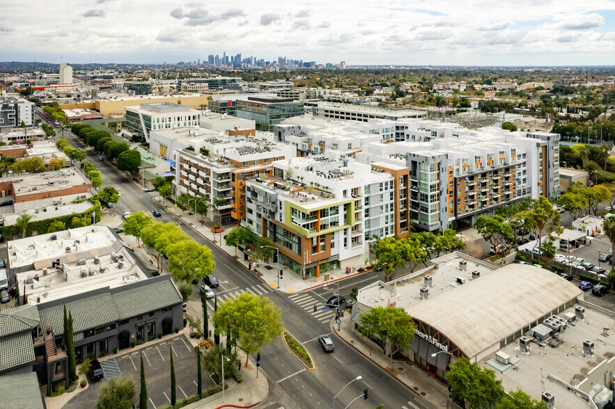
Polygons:
M222 200L218 210L223 223L244 217L243 187L248 177L270 174L272 162L296 155L290 145L244 135L195 139L189 145L176 151L176 191L210 203Z

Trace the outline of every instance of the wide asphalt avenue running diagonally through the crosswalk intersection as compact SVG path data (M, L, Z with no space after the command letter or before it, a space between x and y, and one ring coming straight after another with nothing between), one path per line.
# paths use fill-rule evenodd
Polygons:
M84 148L77 136L70 131L64 132L64 137L68 139L73 147ZM114 213L123 211L145 211L151 214L153 210L162 211L164 218L168 218L169 211L151 196L154 193L145 193L132 182L120 175L111 163L99 161L98 154L88 150L86 159L95 164L100 170L103 186L114 186L121 193L120 201L114 206ZM195 241L208 246L212 249L212 255L216 261L215 274L221 282L225 282L228 288L237 287L238 289L249 289L251 287L263 285L263 280L250 273L247 268L235 260L231 255L219 250L209 240L192 230L182 220L176 219L182 229L189 234ZM350 293L350 289L359 285L366 285L369 282L382 278L381 273L367 273L359 275L359 278L349 278L341 284L342 294ZM266 283L265 283L266 284ZM319 288L309 291L313 297L322 301L326 300L327 294L336 291L337 286ZM198 291L198 290L197 290ZM337 404L344 408L352 399L368 389L369 399L364 401L362 398L352 403L352 408L374 408L380 403L384 403L386 408L402 408L410 406L414 408L426 408L422 400L400 385L398 380L392 378L382 371L371 361L366 360L354 348L346 345L341 339L332 334L332 339L336 345L334 353L325 354L316 342L318 335L331 333L329 322L321 322L316 317L311 316L299 305L289 299L290 294L272 291L267 293L271 300L281 308L286 329L295 336L299 342L304 343L309 350L316 364L316 370L307 371L297 359L290 354L283 341L267 345L262 355L261 369L265 371L272 384L272 392L269 399L285 406L286 408L318 408L329 406L335 396L353 378L361 375L361 382L352 383L340 396ZM345 319L348 319L348 314ZM268 399L268 400L269 400ZM409 404L408 402L412 404Z

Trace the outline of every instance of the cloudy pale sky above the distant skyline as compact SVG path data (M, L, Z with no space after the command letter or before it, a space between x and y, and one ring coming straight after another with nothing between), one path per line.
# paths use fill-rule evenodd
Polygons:
M0 61L615 65L615 0L22 0Z

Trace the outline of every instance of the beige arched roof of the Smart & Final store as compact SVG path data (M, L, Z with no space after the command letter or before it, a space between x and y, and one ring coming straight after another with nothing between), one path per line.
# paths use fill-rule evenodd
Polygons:
M510 264L406 310L472 358L580 294L550 271Z

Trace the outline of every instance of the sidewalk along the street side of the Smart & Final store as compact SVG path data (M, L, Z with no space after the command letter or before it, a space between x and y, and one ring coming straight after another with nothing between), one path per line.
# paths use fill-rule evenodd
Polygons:
M417 396L420 396L431 407L451 408L451 401L447 397L449 392L442 381L428 374L425 369L417 367L417 365L412 363L400 360L391 361L382 352L382 346L369 341L359 332L355 332L355 326L350 320L350 314L345 314L341 321L340 330L338 331L337 323L332 320L332 329L346 344L355 348L361 355L377 364L384 371L387 371L389 375L394 376L400 383L403 383L405 387L412 390Z

